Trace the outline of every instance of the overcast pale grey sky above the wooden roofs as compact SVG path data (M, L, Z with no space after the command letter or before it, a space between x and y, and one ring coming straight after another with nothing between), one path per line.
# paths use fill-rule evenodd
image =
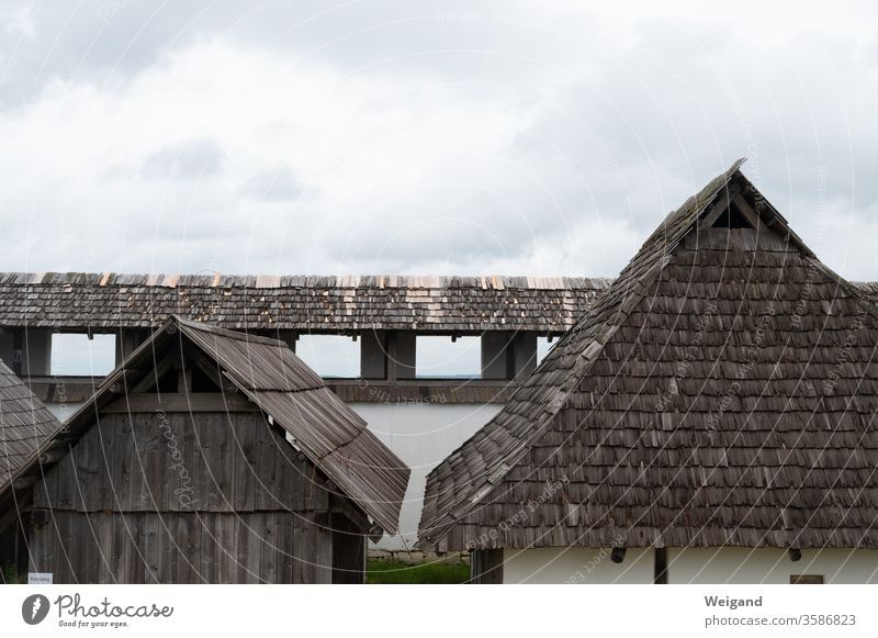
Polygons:
M878 279L875 9L581 4L0 4L0 269L614 276L747 156Z

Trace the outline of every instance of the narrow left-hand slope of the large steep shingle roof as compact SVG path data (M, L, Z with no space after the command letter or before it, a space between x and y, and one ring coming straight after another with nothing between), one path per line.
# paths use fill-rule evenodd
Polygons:
M740 176L743 163L744 158L734 161L698 193L668 213L614 283L596 300L585 316L562 336L559 344L513 394L503 410L427 475L424 510L418 525L419 548L435 547L458 519L466 515L504 480L516 462L527 454L533 441L550 427L567 396L618 328L619 320L627 316L645 295L674 248L691 231L708 208L718 201L718 197L721 197L732 179ZM719 200L719 203L730 199ZM574 351L570 354L567 350ZM573 358L572 361L567 360L570 357ZM543 377L552 377L555 372L559 376L563 374L561 383L554 387L542 383ZM528 413L529 408L536 413ZM511 430L515 430L515 434ZM505 439L504 434L507 435ZM466 454L470 447L477 446L480 438L495 435L498 439L504 439L505 448L502 448L497 458L485 467L481 479L472 481L465 489L455 491L451 503L437 503L439 494L434 492L438 477L448 473L455 459Z

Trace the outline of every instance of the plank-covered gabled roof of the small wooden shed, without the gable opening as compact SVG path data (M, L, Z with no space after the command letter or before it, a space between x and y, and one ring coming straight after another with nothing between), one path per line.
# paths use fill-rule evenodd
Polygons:
M147 376L156 374L157 356L170 356L170 348L183 347L181 336L216 366L217 373L282 427L341 495L354 502L384 531L396 533L409 469L286 344L277 339L171 317L106 376L63 430L41 443L41 450L69 450L105 404L126 395ZM18 473L38 470L34 459Z

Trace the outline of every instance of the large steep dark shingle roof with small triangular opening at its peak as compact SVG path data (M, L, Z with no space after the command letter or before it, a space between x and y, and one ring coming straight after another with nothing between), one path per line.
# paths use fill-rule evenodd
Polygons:
M428 475L420 547L878 547L869 348L852 352L858 383L815 389L858 313L878 343L875 306L740 166L672 212L505 408ZM754 228L700 233L732 202ZM831 329L803 334L815 314ZM800 320L768 337L766 316ZM830 525L840 514L847 524Z

